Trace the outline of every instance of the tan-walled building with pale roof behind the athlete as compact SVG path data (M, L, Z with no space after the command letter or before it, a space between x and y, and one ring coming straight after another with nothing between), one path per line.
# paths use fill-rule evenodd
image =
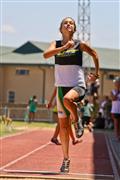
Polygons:
M54 58L45 60L43 51L49 43L28 41L18 48L1 47L0 103L26 104L36 95L39 104L50 98L54 88ZM94 48L100 59L100 96L113 88L112 80L120 75L120 50ZM94 70L92 60L84 63Z

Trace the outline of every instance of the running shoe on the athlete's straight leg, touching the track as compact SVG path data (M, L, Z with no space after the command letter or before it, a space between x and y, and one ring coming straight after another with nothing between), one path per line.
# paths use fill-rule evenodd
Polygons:
M70 159L64 159L60 168L61 173L69 173Z

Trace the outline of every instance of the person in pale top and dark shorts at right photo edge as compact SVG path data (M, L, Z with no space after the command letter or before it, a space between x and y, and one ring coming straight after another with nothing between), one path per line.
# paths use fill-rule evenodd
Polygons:
M112 118L114 121L114 129L116 138L120 141L120 77L113 80L114 89L111 91L112 98Z

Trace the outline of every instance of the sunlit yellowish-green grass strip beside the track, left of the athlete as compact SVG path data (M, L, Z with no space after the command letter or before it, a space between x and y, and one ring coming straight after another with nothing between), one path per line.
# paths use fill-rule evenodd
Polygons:
M24 121L13 121L12 122L12 130L5 127L3 123L0 123L0 137L12 135L15 133L23 132L28 129L35 128L54 128L54 123L49 122L33 122L33 123L25 123Z

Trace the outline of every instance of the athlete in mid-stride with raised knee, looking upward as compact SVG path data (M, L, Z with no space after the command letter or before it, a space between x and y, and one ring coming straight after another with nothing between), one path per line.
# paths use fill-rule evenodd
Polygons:
M68 173L70 166L69 119L72 119L74 123L76 137L80 138L83 134L75 103L83 99L86 92L82 69L83 51L92 56L95 64L95 74L89 74L89 81L95 81L99 77L99 60L95 50L86 43L73 38L76 31L76 23L73 18L64 18L59 29L62 39L53 41L43 56L45 59L55 56L55 86L57 87L57 110L63 152L60 172Z

